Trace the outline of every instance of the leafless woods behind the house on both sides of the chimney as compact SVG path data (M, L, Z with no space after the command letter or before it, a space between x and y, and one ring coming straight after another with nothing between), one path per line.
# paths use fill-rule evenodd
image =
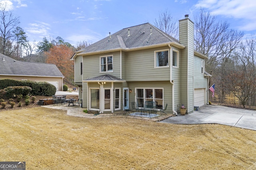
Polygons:
M203 8L194 15L194 49L206 56L205 70L212 75L208 86L215 84L210 101L222 104L256 106L256 38L244 37ZM155 25L178 39L178 19L167 10Z

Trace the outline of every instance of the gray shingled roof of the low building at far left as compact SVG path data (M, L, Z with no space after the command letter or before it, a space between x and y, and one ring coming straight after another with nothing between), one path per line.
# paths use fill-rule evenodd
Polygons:
M17 61L1 53L0 75L64 77L55 64Z

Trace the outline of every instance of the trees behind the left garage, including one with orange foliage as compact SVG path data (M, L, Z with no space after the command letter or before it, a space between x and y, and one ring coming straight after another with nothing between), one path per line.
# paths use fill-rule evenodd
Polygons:
M86 41L77 42L76 47L61 37L43 37L36 43L28 41L26 32L19 27L20 18L0 4L0 53L16 60L55 64L64 75L64 82L74 83L74 61L70 58L75 51L87 47Z

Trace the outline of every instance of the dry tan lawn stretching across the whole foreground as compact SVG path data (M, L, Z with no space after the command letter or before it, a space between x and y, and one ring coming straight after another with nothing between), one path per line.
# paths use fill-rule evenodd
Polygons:
M90 119L35 107L0 112L1 161L37 169L256 169L256 131Z

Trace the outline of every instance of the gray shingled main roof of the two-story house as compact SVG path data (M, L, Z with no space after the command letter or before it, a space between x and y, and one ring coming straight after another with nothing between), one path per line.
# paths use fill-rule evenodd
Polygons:
M130 36L128 35L128 29L130 29ZM108 36L78 52L91 53L118 48L130 49L170 42L179 43L177 39L164 33L154 25L144 23L141 25L124 28L112 34L111 38Z

